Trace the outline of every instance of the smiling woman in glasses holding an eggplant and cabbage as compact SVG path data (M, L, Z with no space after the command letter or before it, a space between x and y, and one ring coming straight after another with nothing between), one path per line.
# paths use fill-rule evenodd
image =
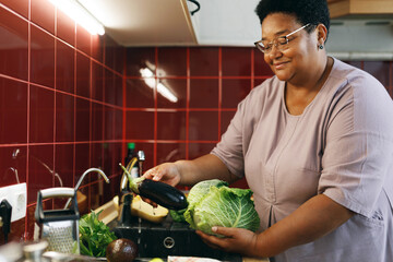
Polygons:
M273 261L393 261L393 103L326 56L325 0L263 0L255 45L275 76L242 100L211 154L145 177L194 184L246 176L260 233L214 227L213 247Z

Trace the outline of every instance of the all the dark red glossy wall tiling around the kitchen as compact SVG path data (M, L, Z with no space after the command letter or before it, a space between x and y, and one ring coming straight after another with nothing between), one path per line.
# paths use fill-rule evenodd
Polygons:
M352 63L393 95L391 61ZM147 87L146 64L177 103ZM206 154L237 104L271 75L254 48L122 48L47 0L0 0L0 187L20 181L28 191L27 216L10 238L32 239L37 191L60 186L52 172L74 187L84 170L100 167L110 184L95 175L82 184L87 210L95 209L118 192L126 142L145 152L144 169Z

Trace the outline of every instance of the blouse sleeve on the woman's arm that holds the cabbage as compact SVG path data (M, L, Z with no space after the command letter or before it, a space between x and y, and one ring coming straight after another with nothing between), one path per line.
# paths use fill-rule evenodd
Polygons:
M319 193L370 216L392 171L392 99L372 78L347 83L331 105Z

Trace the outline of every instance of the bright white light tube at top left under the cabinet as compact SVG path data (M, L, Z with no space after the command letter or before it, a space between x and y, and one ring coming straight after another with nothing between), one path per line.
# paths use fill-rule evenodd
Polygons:
M49 0L92 35L104 35L104 26L76 0Z

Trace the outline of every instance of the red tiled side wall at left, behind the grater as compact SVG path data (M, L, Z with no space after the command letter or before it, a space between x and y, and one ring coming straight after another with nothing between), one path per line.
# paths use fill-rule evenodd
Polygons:
M84 179L84 212L118 192L123 52L47 0L0 0L0 187L26 182L28 206L11 239L33 238L38 190L74 187L90 167L111 183Z

